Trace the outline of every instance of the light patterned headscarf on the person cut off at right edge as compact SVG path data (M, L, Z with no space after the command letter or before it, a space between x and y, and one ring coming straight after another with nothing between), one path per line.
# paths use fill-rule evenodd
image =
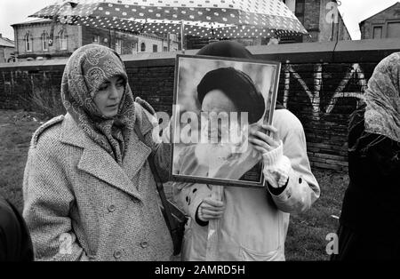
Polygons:
M365 132L400 142L400 52L380 61L364 96Z

